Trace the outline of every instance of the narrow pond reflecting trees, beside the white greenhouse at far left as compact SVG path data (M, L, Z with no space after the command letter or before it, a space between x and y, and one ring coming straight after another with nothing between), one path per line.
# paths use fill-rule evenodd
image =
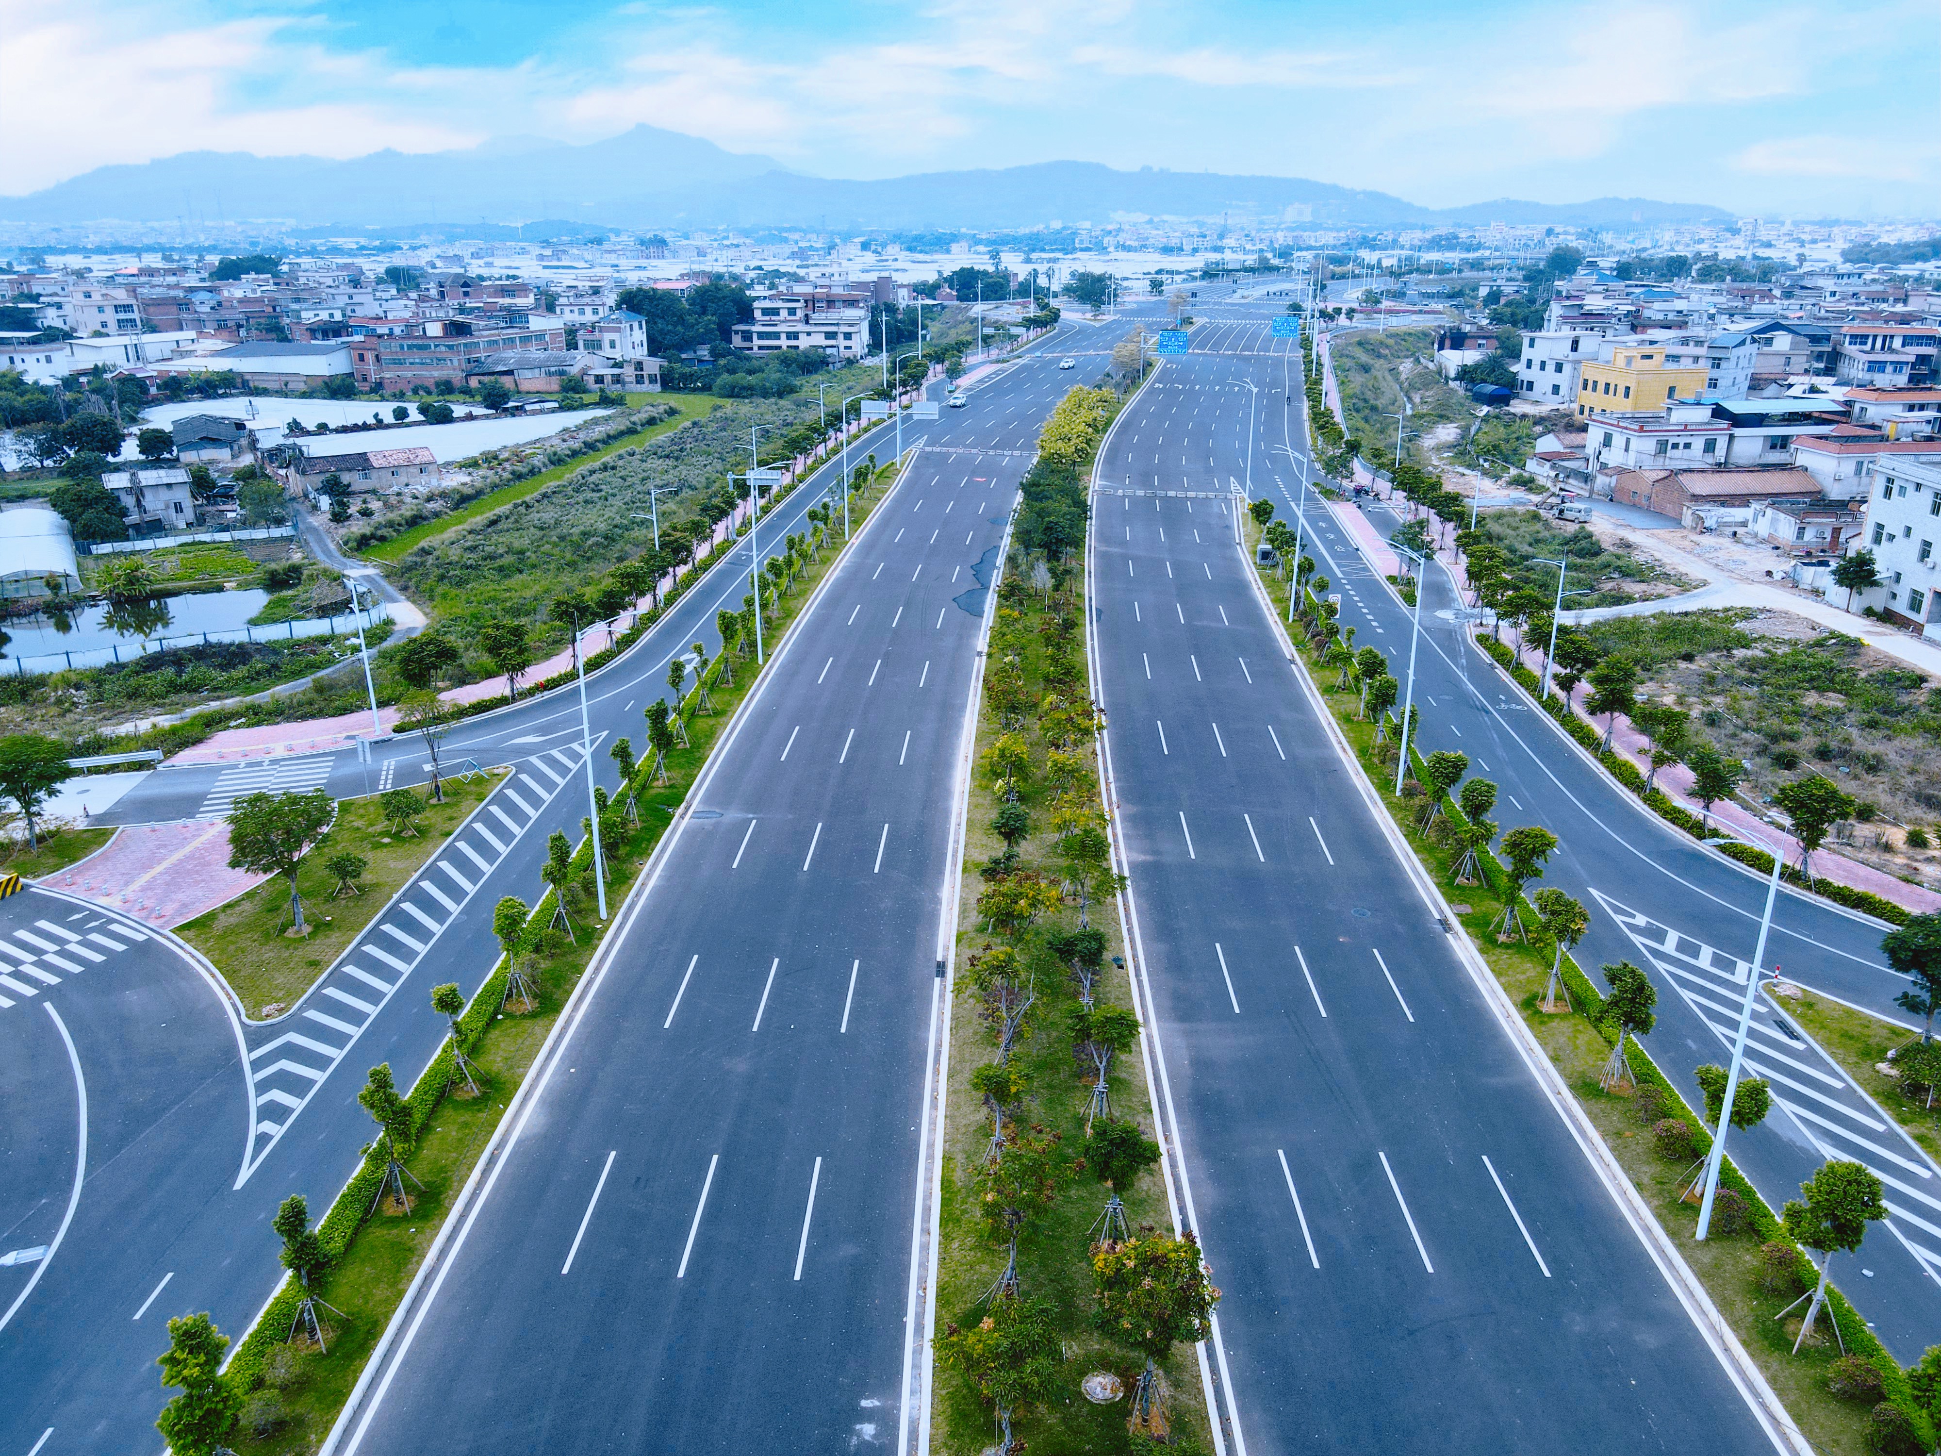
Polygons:
M60 672L126 662L144 652L200 643L268 643L355 631L349 613L250 627L270 594L260 588L196 592L118 606L93 604L62 615L14 617L0 623L8 662L0 672ZM382 619L367 613L367 623Z

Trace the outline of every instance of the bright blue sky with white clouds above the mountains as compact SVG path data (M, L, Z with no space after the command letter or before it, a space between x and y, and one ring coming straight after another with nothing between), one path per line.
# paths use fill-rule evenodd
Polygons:
M1931 0L0 0L0 190L650 122L835 177L1071 157L1933 215L1935 49Z

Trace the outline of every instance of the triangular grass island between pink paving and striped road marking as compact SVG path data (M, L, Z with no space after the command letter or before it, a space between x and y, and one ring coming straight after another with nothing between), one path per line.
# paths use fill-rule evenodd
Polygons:
M175 934L210 957L252 1017L280 1015L297 1004L390 897L439 852L505 773L509 771L495 769L491 775L443 780L444 802L425 804L417 835L394 835L375 796L344 800L330 833L297 868L303 920L311 926L305 940L283 934L289 928L289 881L281 876L198 914ZM324 870L334 854L357 854L365 860L361 895L336 893L336 876Z

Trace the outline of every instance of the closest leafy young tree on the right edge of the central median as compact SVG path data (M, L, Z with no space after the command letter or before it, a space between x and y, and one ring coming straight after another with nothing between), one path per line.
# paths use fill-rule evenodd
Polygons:
M1165 1440L1168 1433L1159 1367L1174 1345L1194 1345L1213 1332L1219 1289L1192 1231L1180 1239L1147 1237L1093 1248L1099 1328L1145 1355L1132 1392L1134 1433Z

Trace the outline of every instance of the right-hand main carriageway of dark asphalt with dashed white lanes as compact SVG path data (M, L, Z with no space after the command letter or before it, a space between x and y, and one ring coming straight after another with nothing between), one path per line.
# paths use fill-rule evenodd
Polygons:
M1225 1289L1234 1444L1770 1450L1252 588L1229 480L1258 369L1196 355L1137 396L1091 559L1135 963Z

